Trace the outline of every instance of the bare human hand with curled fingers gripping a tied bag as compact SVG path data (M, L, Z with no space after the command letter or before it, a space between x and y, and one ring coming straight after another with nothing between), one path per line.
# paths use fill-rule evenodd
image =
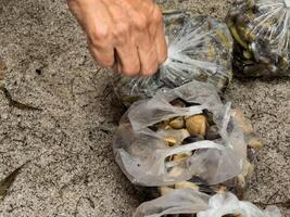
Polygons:
M149 76L167 58L163 18L154 0L67 0L101 67Z

